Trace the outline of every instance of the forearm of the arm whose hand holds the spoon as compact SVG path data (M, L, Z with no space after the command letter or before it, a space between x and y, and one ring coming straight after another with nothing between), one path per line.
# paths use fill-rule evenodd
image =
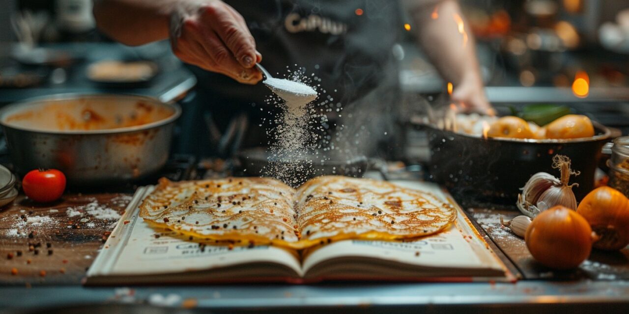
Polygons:
M98 28L126 45L143 45L169 36L169 19L181 0L96 0Z

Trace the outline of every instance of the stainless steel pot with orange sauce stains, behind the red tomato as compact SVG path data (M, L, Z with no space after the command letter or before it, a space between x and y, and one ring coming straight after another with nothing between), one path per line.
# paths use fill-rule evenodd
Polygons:
M103 185L162 168L180 115L150 97L61 94L4 107L0 124L19 175L55 168L71 185Z

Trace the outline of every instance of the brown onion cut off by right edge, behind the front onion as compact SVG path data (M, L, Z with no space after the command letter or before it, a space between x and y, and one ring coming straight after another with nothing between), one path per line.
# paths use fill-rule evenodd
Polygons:
M597 249L615 251L629 244L629 200L618 190L596 188L579 203L577 213L600 237L594 242Z

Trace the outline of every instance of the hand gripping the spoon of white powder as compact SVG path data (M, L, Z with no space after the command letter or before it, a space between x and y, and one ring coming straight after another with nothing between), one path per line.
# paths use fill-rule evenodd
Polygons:
M181 1L170 15L170 45L186 63L256 84L262 73L255 63L262 55L245 19L220 0Z

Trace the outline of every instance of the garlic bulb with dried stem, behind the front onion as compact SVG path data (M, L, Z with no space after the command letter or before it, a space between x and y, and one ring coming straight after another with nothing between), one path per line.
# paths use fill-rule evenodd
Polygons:
M577 209L577 198L574 197L572 187L574 183L568 185L570 175L579 175L578 171L570 169L571 161L563 155L555 155L552 167L561 171L561 180L554 176L538 172L526 182L522 188L522 193L518 194L518 209L522 214L535 218L543 210L562 205L573 210ZM577 185L578 186L578 185Z

